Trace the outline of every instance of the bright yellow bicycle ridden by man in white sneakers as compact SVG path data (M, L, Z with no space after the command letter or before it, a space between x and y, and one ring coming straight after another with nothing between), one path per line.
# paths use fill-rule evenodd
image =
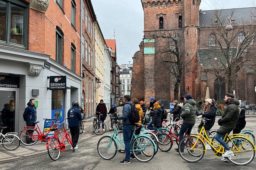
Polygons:
M206 120L208 119L202 118L204 124ZM180 141L178 149L182 159L187 162L197 162L201 160L206 153L206 142L212 147L215 156L220 157L226 152L221 144L214 143L207 135L204 136L202 132L206 134L204 125L199 135L189 135ZM256 148L249 140L249 135L233 134L228 136L228 134L226 134L224 139L225 143L227 143L228 147L234 153L234 156L227 157L230 162L235 165L247 165L254 159Z

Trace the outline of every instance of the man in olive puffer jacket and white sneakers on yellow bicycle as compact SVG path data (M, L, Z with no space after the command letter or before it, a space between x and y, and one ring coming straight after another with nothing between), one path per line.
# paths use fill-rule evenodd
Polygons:
M222 154L223 157L233 156L233 151L228 147L228 145L223 141L223 137L230 133L236 127L236 122L239 118L239 109L238 105L240 104L238 99L234 98L234 95L227 93L224 98L225 103L227 104L226 109L222 118L218 120L218 125L220 128L216 131L215 139L227 150L225 154ZM222 158L224 159L224 158Z

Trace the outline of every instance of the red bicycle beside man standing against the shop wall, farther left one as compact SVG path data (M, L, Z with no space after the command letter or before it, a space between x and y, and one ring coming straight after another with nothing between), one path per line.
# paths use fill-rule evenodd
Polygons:
M47 140L48 134L51 132L51 128L57 128L57 134L59 136L61 136L63 134L63 130L61 128L58 128L56 126L56 123L54 123L54 120L56 121L56 119L44 119L44 120L52 120L52 125L50 128L47 129L46 132L41 132L39 126L37 123L39 123L39 121L33 122L36 124L35 127L33 126L26 126L24 127L24 129L20 132L20 141L21 143L23 143L24 145L30 146L33 145L35 143L37 143L37 141L44 141Z

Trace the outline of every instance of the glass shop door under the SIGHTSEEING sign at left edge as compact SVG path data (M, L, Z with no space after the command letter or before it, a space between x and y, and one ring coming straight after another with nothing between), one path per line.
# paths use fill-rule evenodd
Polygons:
M15 132L17 90L0 89L0 126L7 126L3 133Z

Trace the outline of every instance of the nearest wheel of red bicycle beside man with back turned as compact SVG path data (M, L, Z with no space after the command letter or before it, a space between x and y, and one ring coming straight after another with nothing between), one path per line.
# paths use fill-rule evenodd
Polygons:
M59 159L60 149L58 148L58 146L60 145L60 143L57 140L57 138L51 138L47 143L48 143L47 152L48 152L49 157L52 160Z

